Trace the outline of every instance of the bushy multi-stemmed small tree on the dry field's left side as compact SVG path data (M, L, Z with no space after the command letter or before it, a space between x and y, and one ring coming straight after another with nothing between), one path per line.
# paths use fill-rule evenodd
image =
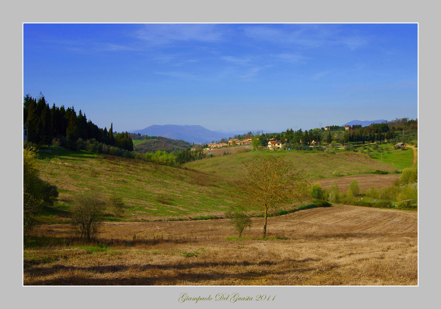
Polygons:
M72 225L80 238L90 240L101 225L105 202L97 192L77 193L72 197Z

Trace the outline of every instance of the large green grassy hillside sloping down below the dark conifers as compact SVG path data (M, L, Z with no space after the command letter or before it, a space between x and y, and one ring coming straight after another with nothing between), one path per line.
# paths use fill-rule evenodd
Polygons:
M40 157L41 178L59 188L55 206L61 213L73 193L89 189L119 194L129 206L128 220L221 214L232 203L229 181L209 173L85 151L40 152Z

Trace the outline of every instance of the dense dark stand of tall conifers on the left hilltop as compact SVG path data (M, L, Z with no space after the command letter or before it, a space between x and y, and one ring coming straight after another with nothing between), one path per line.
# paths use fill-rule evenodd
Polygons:
M126 133L113 132L113 124L109 131L98 128L81 110L64 105L49 107L44 95L37 98L27 94L23 98L23 122L27 128L27 140L38 145L51 145L56 141L69 149L77 149L78 139L95 139L100 143L121 149L133 150L133 143ZM115 135L114 135L115 133Z

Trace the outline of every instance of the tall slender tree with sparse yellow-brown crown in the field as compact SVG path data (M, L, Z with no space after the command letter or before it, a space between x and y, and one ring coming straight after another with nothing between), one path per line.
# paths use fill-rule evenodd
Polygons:
M303 171L280 157L256 158L243 165L244 174L238 181L240 196L245 203L260 206L265 218L263 238L266 238L268 211L299 200L306 179Z

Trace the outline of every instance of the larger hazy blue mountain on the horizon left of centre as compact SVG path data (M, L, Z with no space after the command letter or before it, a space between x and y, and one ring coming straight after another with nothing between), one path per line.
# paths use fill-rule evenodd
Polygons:
M149 136L162 136L177 140L184 140L194 143L211 143L221 138L232 137L234 134L210 131L203 126L178 126L178 125L153 125L142 130L131 131L135 134L146 134Z

